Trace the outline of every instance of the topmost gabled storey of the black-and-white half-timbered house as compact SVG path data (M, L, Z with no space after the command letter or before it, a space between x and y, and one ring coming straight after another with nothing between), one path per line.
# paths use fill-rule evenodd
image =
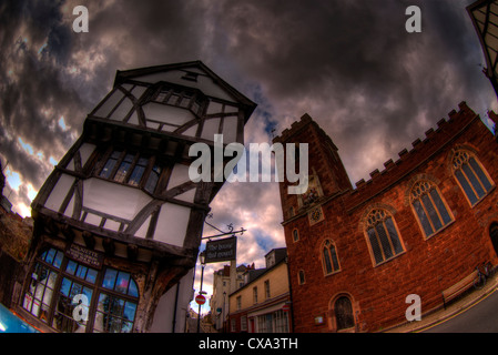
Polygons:
M243 143L256 104L201 61L118 71L111 92L89 114L171 136Z

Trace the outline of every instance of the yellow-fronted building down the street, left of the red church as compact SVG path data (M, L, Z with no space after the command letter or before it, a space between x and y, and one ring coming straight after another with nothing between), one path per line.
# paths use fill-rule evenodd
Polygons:
M292 331L286 248L272 250L265 261L265 268L248 270L244 285L230 294L231 333Z

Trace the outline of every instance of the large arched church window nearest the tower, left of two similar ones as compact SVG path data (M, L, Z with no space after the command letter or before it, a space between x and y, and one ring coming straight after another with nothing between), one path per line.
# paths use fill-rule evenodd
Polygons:
M373 210L366 219L366 234L375 264L403 253L404 247L393 216L383 209Z

